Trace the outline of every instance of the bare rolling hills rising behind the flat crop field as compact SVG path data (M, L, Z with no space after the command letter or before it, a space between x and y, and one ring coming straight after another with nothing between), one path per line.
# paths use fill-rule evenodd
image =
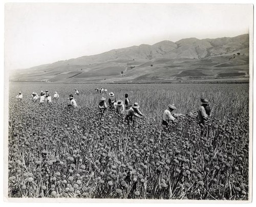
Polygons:
M239 79L249 75L249 35L141 44L10 74L17 82L146 82Z

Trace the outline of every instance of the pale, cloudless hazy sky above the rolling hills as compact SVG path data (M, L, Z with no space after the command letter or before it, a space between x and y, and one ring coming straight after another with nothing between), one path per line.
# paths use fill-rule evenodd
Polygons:
M27 68L112 49L249 32L251 5L6 4L5 66Z

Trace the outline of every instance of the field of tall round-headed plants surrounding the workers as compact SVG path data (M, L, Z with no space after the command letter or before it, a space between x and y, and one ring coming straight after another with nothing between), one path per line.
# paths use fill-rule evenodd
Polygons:
M108 88L97 94L95 88ZM9 196L247 200L249 84L10 83ZM68 108L74 96L78 108ZM33 103L31 93L59 100ZM22 91L23 100L16 100ZM98 115L101 97L129 94L146 119L127 125L113 111ZM201 129L200 98L211 118ZM177 106L169 128L159 122ZM189 112L194 112L193 116Z

